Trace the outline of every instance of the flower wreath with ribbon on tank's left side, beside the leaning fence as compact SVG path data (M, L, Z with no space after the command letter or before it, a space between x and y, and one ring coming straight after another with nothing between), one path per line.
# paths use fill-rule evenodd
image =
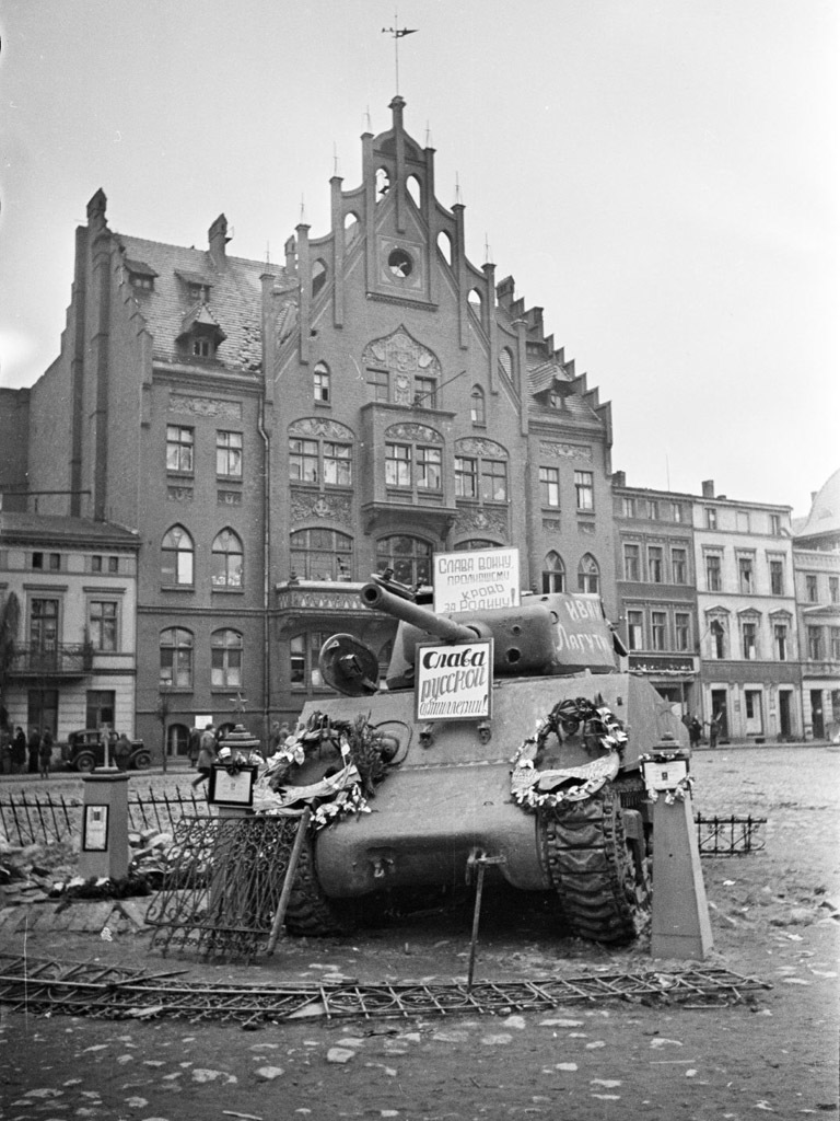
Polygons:
M296 772L318 760L325 762L324 776L293 785ZM384 738L365 716L332 721L312 713L269 760L254 786L254 810L297 817L308 805L315 830L349 814L370 814L367 798L385 777L388 762Z

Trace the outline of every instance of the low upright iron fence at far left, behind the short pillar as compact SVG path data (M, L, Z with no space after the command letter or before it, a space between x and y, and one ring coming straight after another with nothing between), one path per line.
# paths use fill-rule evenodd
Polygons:
M207 813L204 795L192 788L129 791L129 828L171 833L184 817ZM0 793L0 830L11 844L55 844L82 834L82 799L49 790L38 794Z

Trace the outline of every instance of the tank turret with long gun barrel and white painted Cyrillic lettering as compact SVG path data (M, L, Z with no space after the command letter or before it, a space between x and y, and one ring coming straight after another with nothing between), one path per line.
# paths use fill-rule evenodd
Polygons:
M529 597L515 608L438 615L380 582L365 584L362 603L400 620L388 670L389 688L413 682L419 642L436 637L447 642L493 639L493 671L497 677L575 674L584 669L616 669L614 632L596 595L558 592Z

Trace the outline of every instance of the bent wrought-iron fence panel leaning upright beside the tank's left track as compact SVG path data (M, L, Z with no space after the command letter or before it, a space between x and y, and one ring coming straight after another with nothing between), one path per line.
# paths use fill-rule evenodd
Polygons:
M272 932L298 825L296 817L181 818L146 916L157 928L152 946L254 957Z

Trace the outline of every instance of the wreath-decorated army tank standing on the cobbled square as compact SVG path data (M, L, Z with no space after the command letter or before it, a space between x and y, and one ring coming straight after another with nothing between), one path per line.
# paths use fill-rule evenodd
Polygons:
M342 695L305 706L262 781L277 805L256 803L314 810L290 933L336 933L353 900L372 914L401 890L457 890L484 861L487 882L552 892L564 935L635 938L651 905L640 756L665 736L688 750L688 734L647 680L619 671L626 651L600 600L557 593L438 615L376 578L361 599L400 621L385 687L370 650L329 639L321 673ZM482 651L489 712L448 719ZM427 720L416 692L430 667L433 704L449 707L427 696Z

